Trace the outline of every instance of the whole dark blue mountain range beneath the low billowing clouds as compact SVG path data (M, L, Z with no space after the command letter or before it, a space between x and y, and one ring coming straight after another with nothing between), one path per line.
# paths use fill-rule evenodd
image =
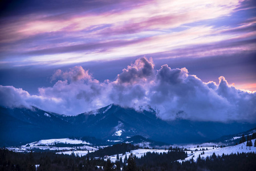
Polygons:
M76 116L59 115L35 107L0 107L0 124L0 146L71 136L124 141L136 135L167 144L202 143L256 127L256 124L235 122L164 121L153 109L137 112L115 104Z

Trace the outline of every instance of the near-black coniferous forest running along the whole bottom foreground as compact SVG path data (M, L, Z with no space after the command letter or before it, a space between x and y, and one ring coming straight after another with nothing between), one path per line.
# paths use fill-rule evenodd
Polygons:
M124 161L114 163L103 158L78 157L75 155L55 154L52 152L16 153L0 149L0 170L256 170L255 153L236 153L222 156L197 158L177 162L185 158L186 152L170 150L168 153L146 153L137 158L133 154ZM195 158L196 159L196 158Z

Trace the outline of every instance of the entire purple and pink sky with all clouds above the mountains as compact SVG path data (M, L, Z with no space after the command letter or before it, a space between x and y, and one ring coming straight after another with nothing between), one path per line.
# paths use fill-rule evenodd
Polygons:
M0 105L256 122L255 1L1 1Z

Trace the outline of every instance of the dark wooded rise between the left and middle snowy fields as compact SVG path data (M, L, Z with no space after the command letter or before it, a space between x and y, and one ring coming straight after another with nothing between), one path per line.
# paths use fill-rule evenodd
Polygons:
M99 149L94 153L89 153L89 157L104 157L104 156L112 156L115 154L125 154L125 152L130 152L131 150L139 149L139 146L135 146L132 144L122 143L115 144L112 146L107 146L106 148Z

